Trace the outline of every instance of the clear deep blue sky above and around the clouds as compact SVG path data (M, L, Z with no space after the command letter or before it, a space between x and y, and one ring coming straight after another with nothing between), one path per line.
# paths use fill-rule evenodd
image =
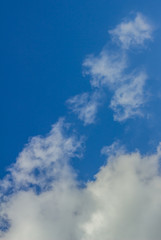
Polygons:
M131 64L147 68L149 91L161 96L160 9L159 0L1 1L1 177L30 137L46 134L63 116L88 137L84 159L74 162L82 177L96 173L104 161L100 149L116 140L130 150L155 150L161 140L161 99L147 104L153 121L114 122L112 111L105 106L96 125L86 127L69 113L65 101L90 90L88 77L82 76L84 58L90 53L98 54L109 41L108 30L133 12L143 13L156 31L153 42L140 57L130 53Z

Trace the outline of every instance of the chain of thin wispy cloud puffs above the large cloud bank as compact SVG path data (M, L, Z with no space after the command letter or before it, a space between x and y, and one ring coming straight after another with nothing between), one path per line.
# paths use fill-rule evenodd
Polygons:
M85 125L95 122L100 98L93 96L95 91L100 90L106 94L109 89L113 94L109 106L114 111L114 120L121 122L143 116L142 107L146 100L144 86L148 76L144 70L133 69L129 73L127 50L134 46L142 47L146 40L152 39L152 32L152 25L137 13L134 19L123 21L109 31L112 39L119 43L117 51L109 51L106 47L98 56L86 57L84 74L90 76L94 94L89 97L88 93L83 93L68 101L70 109Z

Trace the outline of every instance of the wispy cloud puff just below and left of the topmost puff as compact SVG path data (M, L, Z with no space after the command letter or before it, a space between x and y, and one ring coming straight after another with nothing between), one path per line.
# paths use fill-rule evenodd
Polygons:
M84 73L91 75L93 87L115 86L124 81L123 71L127 68L126 56L121 53L102 51L98 57L88 56L83 66Z

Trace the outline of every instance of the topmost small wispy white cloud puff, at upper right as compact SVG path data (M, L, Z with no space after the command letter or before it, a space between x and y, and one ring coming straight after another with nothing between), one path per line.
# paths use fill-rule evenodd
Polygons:
M152 25L140 13L137 13L135 19L121 22L115 29L109 31L113 40L121 44L124 49L143 46L146 40L152 39L152 32Z

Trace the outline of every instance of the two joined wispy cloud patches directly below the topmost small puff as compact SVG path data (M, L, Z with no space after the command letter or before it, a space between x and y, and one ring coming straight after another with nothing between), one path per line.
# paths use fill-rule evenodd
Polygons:
M84 66L91 75L91 85L102 89L108 87L113 93L110 107L114 111L114 119L123 121L134 116L143 116L141 107L145 103L144 86L147 75L144 71L127 72L127 57L121 53L110 55L101 52L98 57L88 57Z

